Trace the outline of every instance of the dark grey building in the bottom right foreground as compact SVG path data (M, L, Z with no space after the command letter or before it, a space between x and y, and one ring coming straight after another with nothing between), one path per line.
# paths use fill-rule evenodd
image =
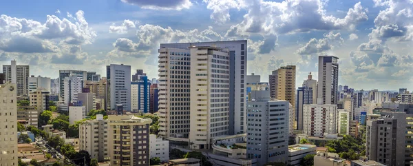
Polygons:
M385 165L405 165L406 114L388 112L367 121L366 157Z

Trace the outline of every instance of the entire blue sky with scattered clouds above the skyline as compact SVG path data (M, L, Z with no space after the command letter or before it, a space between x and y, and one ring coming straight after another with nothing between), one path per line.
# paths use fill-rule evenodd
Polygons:
M25 5L22 5L25 4ZM0 65L31 75L131 65L158 75L160 43L248 40L248 74L297 65L296 87L317 56L339 57L339 84L413 90L413 0L2 1Z

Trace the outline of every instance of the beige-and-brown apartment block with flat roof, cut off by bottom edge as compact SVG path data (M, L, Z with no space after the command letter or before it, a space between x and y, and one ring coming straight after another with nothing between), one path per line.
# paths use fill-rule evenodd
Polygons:
M130 74L127 77L129 78ZM110 165L149 165L149 124L151 122L150 119L133 115L109 115L107 147Z

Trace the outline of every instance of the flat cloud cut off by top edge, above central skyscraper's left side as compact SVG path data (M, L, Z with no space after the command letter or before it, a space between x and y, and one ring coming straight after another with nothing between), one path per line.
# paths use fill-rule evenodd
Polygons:
M182 10L189 9L193 4L189 0L121 0L125 3L134 4L140 8L152 10Z

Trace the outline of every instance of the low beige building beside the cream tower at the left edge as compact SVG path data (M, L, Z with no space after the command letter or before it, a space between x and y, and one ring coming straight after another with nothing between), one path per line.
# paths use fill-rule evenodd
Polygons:
M40 112L34 106L17 106L17 121L25 121L25 124L38 127Z

